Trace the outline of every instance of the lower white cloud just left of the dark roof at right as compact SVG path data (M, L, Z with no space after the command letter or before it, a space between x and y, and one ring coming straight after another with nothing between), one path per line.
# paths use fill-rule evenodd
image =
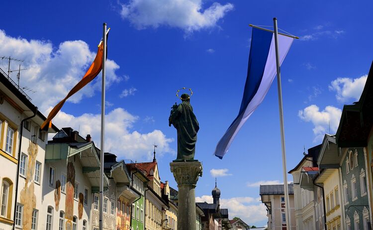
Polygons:
M314 141L321 140L325 133L335 133L338 129L339 120L341 119L342 111L333 106L327 106L323 111L316 105L311 105L304 110L298 112L298 116L307 122L312 122L314 125L313 133L315 134Z

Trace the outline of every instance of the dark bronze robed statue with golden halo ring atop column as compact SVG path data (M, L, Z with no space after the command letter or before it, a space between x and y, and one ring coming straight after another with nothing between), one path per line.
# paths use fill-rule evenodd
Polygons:
M190 96L183 94L180 99L182 103L179 105L175 103L169 117L169 126L173 124L178 131L178 157L174 162L196 161L194 152L199 124L190 105Z

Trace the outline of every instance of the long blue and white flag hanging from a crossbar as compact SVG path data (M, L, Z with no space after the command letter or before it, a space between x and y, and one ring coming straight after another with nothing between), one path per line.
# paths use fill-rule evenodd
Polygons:
M294 38L278 35L280 65L285 58ZM241 102L240 112L219 140L215 156L220 159L228 151L234 137L250 115L263 102L276 76L275 34L253 28L249 55L249 66Z

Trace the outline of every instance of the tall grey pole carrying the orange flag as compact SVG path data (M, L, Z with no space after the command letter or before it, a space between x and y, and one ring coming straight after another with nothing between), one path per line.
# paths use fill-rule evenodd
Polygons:
M104 134L105 134L105 62L106 62L106 23L103 23L102 33L102 90L101 90L101 147L100 147L100 210L99 230L102 230L103 214L103 156L104 156Z

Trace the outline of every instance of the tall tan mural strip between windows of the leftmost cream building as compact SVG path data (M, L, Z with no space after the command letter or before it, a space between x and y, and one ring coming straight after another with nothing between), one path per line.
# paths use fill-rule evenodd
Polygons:
M38 145L29 140L27 148L28 167L26 169L26 180L23 189L19 194L20 203L23 205L23 230L31 230L32 212L36 207L36 196L34 194L34 171Z

